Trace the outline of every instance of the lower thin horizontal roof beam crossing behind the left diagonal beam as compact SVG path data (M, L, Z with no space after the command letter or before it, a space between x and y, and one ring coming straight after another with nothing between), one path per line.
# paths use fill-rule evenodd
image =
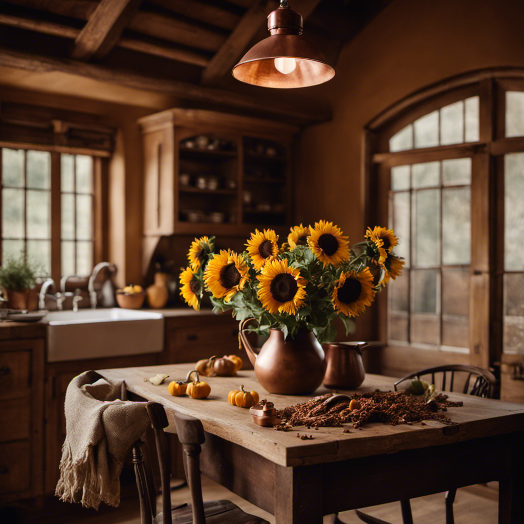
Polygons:
M46 35L59 36L62 38L75 39L80 34L80 29L75 27L64 26L62 24L56 24L45 20L19 18L17 16L4 15L2 13L0 13L0 24L37 31ZM168 58L170 60L177 60L179 62L190 63L193 65L200 65L201 67L205 67L210 60L208 57L200 53L178 49L168 45L159 46L156 43L137 40L134 38L121 38L116 45L125 49L132 49L133 51L153 54L157 57Z

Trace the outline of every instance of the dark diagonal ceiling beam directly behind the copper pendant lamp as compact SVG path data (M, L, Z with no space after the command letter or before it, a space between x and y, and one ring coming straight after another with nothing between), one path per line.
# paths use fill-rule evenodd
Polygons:
M302 0L296 6L305 20L314 11L321 0ZM263 7L265 5L265 8ZM267 16L271 11L277 9L279 2L269 0L265 2L255 2L253 6L242 17L230 37L224 45L215 53L208 67L202 72L202 83L210 85L218 82L228 74L245 53L249 42L255 37L260 27L266 22Z

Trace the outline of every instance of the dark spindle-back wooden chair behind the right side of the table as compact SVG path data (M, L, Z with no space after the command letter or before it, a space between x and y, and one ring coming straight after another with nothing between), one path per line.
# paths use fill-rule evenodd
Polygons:
M462 393L475 395L477 397L493 398L495 395L496 379L492 372L487 369L483 369L475 366L464 366L461 364L449 364L446 366L430 367L427 369L421 369L415 373L411 373L400 380L397 380L394 384L395 391L397 386L407 380L413 378L422 379L431 375L431 380L427 380L430 384L434 384L435 388L440 391L454 391L454 386L457 385L456 374L465 374L464 385L462 387ZM442 375L442 379L439 384L435 381L435 376ZM475 377L473 385L471 386L471 379ZM471 387L470 387L471 386ZM455 519L453 517L453 503L455 501L456 489L450 489L446 493L446 524L454 524ZM400 507L402 510L402 521L404 524L413 524L413 517L411 514L411 504L409 499L401 500ZM355 513L359 519L367 524L389 524L384 520L380 520L371 515L367 515L362 511L356 509ZM333 516L330 524L343 524L341 520L335 515Z

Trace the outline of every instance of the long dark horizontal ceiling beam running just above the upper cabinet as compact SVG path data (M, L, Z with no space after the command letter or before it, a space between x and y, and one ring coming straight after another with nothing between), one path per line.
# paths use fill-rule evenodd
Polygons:
M213 103L229 108L242 108L258 113L271 114L273 118L301 125L326 122L331 119L331 110L326 107L293 108L289 104L271 102L266 104L260 96L250 96L235 91L205 88L162 78L147 77L143 74L118 70L103 65L79 62L70 59L59 60L35 53L23 53L0 48L0 66L26 71L47 73L60 71L77 74L102 82L117 83L134 89L166 93L181 100Z

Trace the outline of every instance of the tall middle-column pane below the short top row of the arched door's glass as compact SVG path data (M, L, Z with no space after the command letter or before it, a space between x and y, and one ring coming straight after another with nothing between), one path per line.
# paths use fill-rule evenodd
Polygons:
M417 266L436 266L440 263L439 190L424 189L413 195L413 255Z

